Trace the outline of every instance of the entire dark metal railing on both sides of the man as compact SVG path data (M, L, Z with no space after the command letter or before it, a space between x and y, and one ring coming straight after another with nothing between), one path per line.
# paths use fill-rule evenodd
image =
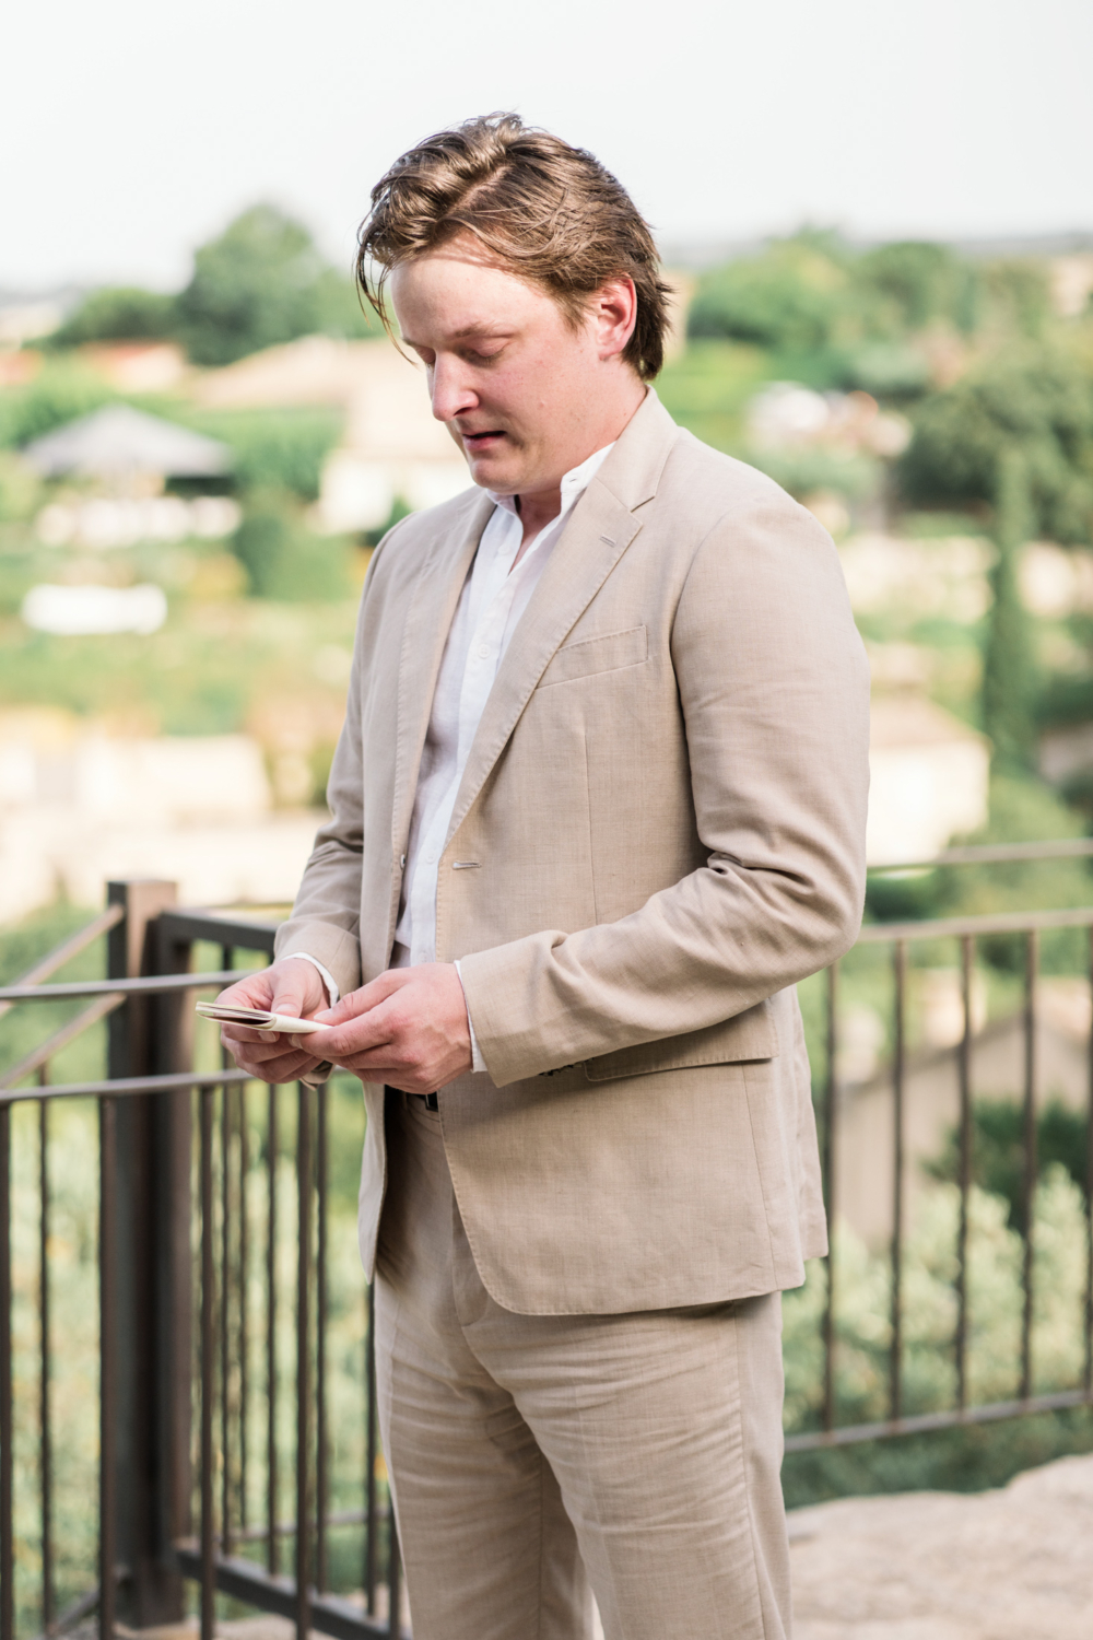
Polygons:
M1034 1381L1037 979L1041 940L1059 928L1078 930L1091 940L1093 907L862 932L860 948L891 950L891 1153L883 1161L891 1186L887 1415L870 1422L841 1419L836 1243L826 1261L818 1427L793 1433L788 1450L1093 1401L1093 1120L1086 1125L1083 1181L1083 1312L1075 1319L1083 1338L1083 1369L1073 1384L1050 1392L1037 1394ZM333 1084L265 1089L223 1063L195 1064L193 992L216 991L239 977L239 954L251 966L269 959L274 932L272 923L241 915L179 910L170 884L111 884L100 917L18 984L0 987L0 1017L16 1005L82 1004L44 1041L0 1071L0 1640L15 1640L16 1612L20 1635L61 1633L95 1609L103 1640L115 1635L118 1620L138 1629L175 1622L187 1609L187 1586L197 1586L203 1640L211 1640L216 1594L292 1619L300 1640L308 1629L336 1640L400 1632L405 1604L377 1435L370 1294L359 1271L356 1287L342 1281L331 1292L336 1269L331 1164L339 1163L338 1151L331 1151L336 1089ZM1013 1399L980 1402L967 1369L977 1053L972 989L978 943L1001 935L1023 945L1019 1387ZM102 938L105 979L46 984ZM946 940L955 941L959 951L964 1018L955 1050L960 1204L955 1309L952 1337L944 1343L952 1358L954 1394L944 1409L908 1412L903 1383L908 971L921 941ZM218 966L193 971L198 948L208 946L218 953ZM824 976L826 1076L818 1100L832 1222L841 1200L836 1159L844 1109L839 1087L844 966L836 964ZM107 1028L105 1076L52 1082L51 1068L59 1055L100 1022ZM210 1051L208 1040L198 1043L198 1061ZM1093 1115L1093 1035L1086 1053ZM64 1602L57 1579L54 1379L66 1340L57 1335L51 1297L51 1225L59 1207L51 1178L51 1114L61 1100L92 1104L98 1128L93 1260L98 1383L88 1383L98 1419L98 1499L97 1506L84 1499L87 1514L97 1517L98 1573L97 1579L88 1576L84 1589L69 1588ZM38 1223L34 1256L16 1271L11 1123L18 1105L31 1105L36 1114L38 1178L31 1184ZM339 1148L351 1146L339 1138ZM36 1366L25 1364L18 1386L16 1301L34 1314L36 1355ZM329 1399L334 1335L338 1428ZM356 1386L352 1409L344 1399L346 1384ZM346 1440L347 1422L354 1424L354 1442ZM26 1437L21 1446L20 1432ZM16 1501L16 1451L29 1450L34 1461L21 1463L25 1496Z

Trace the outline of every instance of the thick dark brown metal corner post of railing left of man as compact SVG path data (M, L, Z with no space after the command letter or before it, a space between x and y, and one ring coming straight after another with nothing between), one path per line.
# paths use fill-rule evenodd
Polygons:
M108 936L108 977L182 973L188 946L167 948L161 912L174 882L108 884L125 920ZM108 1074L188 1068L182 997L129 999L110 1020ZM120 1610L131 1627L180 1622L172 1543L190 1515L190 1092L118 1100L115 1109L116 1361L113 1389ZM108 1533L110 1535L110 1533Z

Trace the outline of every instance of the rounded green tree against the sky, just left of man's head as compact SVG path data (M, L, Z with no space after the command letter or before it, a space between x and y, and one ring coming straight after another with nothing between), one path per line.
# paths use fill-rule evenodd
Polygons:
M323 261L302 223L274 205L254 205L195 253L177 307L179 335L197 364L231 364L315 331L374 330L349 279Z

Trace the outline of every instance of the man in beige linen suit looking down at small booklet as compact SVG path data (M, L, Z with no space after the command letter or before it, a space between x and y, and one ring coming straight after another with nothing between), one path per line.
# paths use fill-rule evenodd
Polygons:
M444 131L361 267L475 487L375 553L333 818L229 995L320 1014L365 1087L415 1635L583 1640L590 1584L608 1640L775 1640L780 1291L826 1245L793 986L864 886L837 558L647 387L667 292L590 154Z

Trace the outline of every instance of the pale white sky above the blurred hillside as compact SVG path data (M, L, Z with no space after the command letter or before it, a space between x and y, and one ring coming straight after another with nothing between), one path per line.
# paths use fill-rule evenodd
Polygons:
M1093 230L1090 0L16 0L0 289L175 289L256 200L349 266L421 136L515 108L662 246Z

